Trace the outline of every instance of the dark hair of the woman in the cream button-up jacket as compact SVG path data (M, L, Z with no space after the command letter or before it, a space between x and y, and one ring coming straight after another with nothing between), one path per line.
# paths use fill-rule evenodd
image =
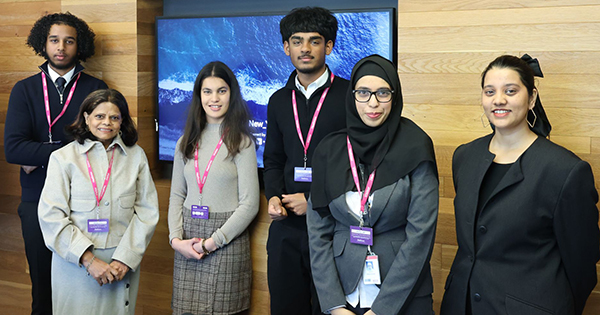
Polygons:
M77 119L75 119L73 124L65 128L65 132L72 135L81 144L83 144L85 139L97 140L87 128L83 113L90 115L98 105L105 102L115 104L119 108L121 112L121 139L123 139L123 143L128 147L134 145L137 142L138 134L133 119L129 115L127 101L121 92L113 89L96 90L90 93L83 100L83 103L81 103Z

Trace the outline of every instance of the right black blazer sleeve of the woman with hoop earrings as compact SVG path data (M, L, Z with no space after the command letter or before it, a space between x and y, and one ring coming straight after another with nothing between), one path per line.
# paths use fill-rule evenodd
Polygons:
M597 282L600 258L598 193L590 165L579 161L569 173L554 211L554 231L573 292L575 314L581 314Z

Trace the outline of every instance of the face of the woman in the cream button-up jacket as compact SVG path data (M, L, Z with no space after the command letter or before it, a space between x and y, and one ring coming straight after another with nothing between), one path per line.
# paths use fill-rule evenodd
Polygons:
M121 111L117 105L104 102L90 113L83 113L90 132L107 148L121 130Z

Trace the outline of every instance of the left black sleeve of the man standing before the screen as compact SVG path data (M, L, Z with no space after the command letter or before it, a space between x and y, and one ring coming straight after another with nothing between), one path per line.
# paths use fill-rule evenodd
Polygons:
M282 104L276 104L271 97L267 107L267 139L263 154L265 164L263 176L267 201L274 196L281 198L281 195L285 193L284 168L287 156L283 151L283 134L277 121L278 106L282 106Z

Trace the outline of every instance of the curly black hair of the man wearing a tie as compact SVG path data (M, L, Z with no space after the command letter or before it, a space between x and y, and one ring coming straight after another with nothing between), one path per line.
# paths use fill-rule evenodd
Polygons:
M96 34L84 20L70 12L48 14L37 20L27 37L27 46L33 48L37 55L48 59L44 48L46 47L50 28L55 24L68 25L77 31L77 58L79 60L85 61L94 55L94 38Z

